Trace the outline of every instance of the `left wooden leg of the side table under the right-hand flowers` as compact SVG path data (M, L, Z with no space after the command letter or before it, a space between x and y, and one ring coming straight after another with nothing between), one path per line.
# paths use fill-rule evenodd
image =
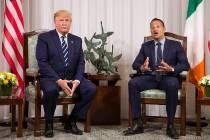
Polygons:
M199 100L196 99L196 135L201 136L201 104Z

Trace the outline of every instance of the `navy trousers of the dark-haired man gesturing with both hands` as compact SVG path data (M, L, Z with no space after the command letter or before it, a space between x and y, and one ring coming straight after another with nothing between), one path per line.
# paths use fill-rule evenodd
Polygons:
M157 81L154 75L143 75L131 79L128 83L128 91L133 119L140 118L141 116L140 92L147 89L161 89L166 92L166 111L168 122L173 123L178 99L178 78L163 76L160 81Z

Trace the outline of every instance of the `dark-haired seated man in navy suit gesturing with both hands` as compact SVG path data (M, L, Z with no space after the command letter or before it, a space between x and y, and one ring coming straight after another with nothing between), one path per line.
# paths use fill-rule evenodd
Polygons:
M143 133L140 112L140 92L147 89L161 89L166 92L167 135L178 138L174 128L180 72L190 68L184 49L180 42L166 39L165 25L160 19L154 18L150 22L153 40L142 44L140 52L133 62L133 69L140 76L128 83L129 102L132 108L132 127L124 131L124 135Z

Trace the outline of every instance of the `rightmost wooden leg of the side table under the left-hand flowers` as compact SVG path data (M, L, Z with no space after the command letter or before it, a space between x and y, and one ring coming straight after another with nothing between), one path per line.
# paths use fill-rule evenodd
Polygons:
M18 128L17 128L17 137L23 136L23 100L18 104Z

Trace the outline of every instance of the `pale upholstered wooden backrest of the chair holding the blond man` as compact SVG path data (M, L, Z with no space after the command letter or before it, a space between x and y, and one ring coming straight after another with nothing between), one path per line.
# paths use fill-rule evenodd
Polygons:
M38 64L35 55L36 44L37 44L38 35L46 31L47 30L39 30L39 31L26 32L23 34L24 72L26 71L38 72Z

